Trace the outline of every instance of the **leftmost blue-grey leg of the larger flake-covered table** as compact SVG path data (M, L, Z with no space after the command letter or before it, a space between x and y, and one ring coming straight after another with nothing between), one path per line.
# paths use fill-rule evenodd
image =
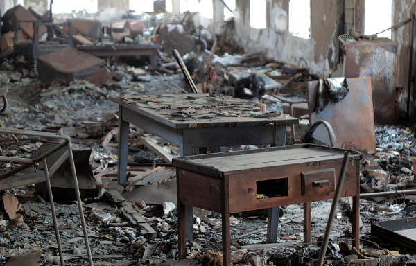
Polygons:
M128 156L128 129L130 123L123 121L122 109L119 107L119 184L127 184L127 156Z

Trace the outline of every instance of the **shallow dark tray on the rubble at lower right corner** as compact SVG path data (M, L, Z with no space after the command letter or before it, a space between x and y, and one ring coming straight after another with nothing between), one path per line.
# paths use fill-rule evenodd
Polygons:
M371 235L416 251L416 217L374 222L371 224Z

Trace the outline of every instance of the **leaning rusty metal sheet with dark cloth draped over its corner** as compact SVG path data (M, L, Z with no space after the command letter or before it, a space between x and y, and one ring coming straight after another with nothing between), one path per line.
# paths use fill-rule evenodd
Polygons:
M311 123L318 120L328 121L336 135L338 148L374 152L376 136L370 78L347 78L349 92L338 103L329 103L321 112L313 112L319 81L308 85L308 100L311 111ZM324 127L318 127L313 137L329 143Z

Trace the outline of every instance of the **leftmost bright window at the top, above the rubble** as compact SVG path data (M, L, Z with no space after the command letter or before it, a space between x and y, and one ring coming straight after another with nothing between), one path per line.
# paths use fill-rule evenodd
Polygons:
M64 14L82 10L86 10L89 13L98 12L98 0L53 0L52 3L52 12L54 14Z

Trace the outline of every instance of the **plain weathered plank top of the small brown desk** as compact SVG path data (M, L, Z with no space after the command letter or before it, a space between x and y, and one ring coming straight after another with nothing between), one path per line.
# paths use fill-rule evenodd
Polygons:
M284 147L221 152L173 159L173 166L186 170L205 172L208 175L223 176L224 173L248 171L275 166L288 166L297 163L312 163L343 159L346 151L350 159L360 159L356 151L329 148L321 145L301 144Z

